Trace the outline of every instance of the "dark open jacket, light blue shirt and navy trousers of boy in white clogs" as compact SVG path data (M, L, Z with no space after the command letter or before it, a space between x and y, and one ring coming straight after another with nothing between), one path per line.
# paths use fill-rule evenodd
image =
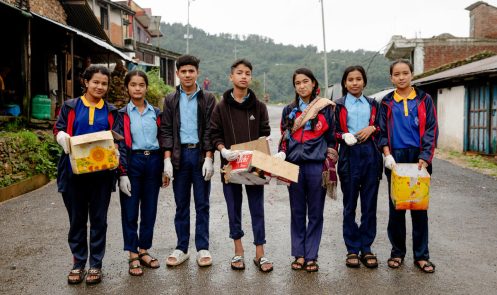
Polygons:
M190 242L190 201L195 202L195 247L209 250L209 210L211 182L202 175L206 153L213 151L210 118L215 98L197 86L187 95L181 85L164 100L160 126L161 147L171 152L173 191L176 203L174 226L176 249L188 252Z

